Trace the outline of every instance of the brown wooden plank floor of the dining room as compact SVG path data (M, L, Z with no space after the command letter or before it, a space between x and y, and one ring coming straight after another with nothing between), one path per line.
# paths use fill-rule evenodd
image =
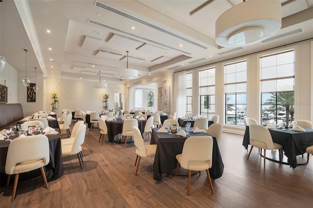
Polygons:
M66 135L66 131L62 132ZM205 208L312 208L313 156L307 165L292 169L266 161L253 149L249 160L242 135L223 133L220 151L224 174L213 180L211 194L205 171L191 177L164 174L153 179L154 158L142 158L134 175L134 143L98 143L99 130L88 129L83 145L84 169L75 156L65 157L63 175L44 187L42 178L18 184L11 202L12 186L0 188L0 207L103 208L103 207L205 207ZM147 137L145 135L145 141ZM307 155L305 154L305 157Z

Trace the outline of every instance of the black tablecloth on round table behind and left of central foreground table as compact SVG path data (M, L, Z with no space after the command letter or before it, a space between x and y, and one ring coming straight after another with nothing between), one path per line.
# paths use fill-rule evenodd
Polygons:
M143 131L145 130L146 120L137 120L138 121L138 128L141 132L141 135L143 134ZM122 119L116 119L116 121L106 121L107 127L108 127L108 139L109 142L114 142L114 136L121 134L123 131L123 121Z

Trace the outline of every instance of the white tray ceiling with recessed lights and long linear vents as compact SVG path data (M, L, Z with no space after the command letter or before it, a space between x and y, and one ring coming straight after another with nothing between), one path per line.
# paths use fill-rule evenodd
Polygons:
M216 45L215 21L242 0L3 0L0 55L24 71L26 48L27 70L41 68L45 77L96 81L101 71L106 82L121 82L126 51L128 68L142 78L313 38L313 0L280 2L275 36L301 32L234 49Z

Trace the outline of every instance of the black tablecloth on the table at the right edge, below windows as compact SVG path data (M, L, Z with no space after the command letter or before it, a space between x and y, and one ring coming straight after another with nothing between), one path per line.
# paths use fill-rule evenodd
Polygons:
M283 146L288 164L293 168L297 166L296 156L304 154L306 148L313 145L313 129L305 128L305 130L306 132L292 131L291 128L286 130L269 129L273 142ZM246 126L243 146L247 149L249 144L249 126Z

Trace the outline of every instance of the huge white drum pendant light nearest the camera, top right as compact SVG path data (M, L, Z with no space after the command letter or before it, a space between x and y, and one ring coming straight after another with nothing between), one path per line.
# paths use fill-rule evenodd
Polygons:
M281 14L281 2L278 0L244 0L217 19L215 42L223 47L261 42L280 30Z

